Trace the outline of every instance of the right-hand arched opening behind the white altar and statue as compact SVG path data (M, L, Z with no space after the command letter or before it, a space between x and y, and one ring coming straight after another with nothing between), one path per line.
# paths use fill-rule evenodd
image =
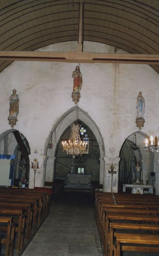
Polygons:
M145 152L145 139L148 136L137 131L124 141L120 150L118 192L123 191L123 184L133 184L136 163L139 162L142 170L143 184L152 185L150 173L154 170L154 154ZM134 147L135 144L137 147ZM141 180L140 180L141 182Z

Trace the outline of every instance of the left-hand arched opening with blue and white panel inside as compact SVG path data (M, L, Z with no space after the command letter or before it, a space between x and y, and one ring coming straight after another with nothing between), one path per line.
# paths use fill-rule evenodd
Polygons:
M0 135L0 186L28 187L29 154L21 132L10 129Z

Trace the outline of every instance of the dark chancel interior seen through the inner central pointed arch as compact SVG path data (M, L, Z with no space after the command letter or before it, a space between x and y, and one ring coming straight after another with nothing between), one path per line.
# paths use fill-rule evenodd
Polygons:
M55 162L55 180L64 180L66 189L91 189L91 181L99 183L100 175L100 150L98 142L91 129L79 120L78 122L83 128L80 132L80 138L87 140L87 148L82 156L68 155L63 151L61 141L68 140L71 133L71 127L61 136L57 150Z

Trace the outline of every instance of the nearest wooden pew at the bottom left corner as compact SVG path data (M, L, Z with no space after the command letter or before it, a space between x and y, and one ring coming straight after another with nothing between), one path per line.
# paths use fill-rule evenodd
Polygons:
M7 224L7 228L1 226L4 223ZM0 224L0 230L7 232L6 237L1 239L1 244L5 244L5 256L12 256L16 225L12 223L12 217L0 217Z

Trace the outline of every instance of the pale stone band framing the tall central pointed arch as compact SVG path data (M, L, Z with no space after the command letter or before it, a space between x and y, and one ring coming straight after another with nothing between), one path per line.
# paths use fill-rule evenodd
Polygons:
M83 123L87 124L87 126L91 129L91 131L94 133L96 140L99 145L100 150L100 184L103 184L103 178L104 178L104 143L102 135L95 124L95 122L92 120L92 118L81 108L79 109L79 120L81 120ZM69 127L70 124L74 123L76 121L76 106L69 109L67 112L59 118L57 123L53 126L52 131L49 133L47 142L45 143L45 150L44 154L47 155L47 158L45 160L44 166L45 166L45 178L44 181L52 181L53 179L53 173L55 170L55 155L57 146L59 143L59 140L61 138L61 135L65 132L65 130ZM48 144L51 141L52 136L52 144L53 148L49 149ZM44 182L43 181L43 182Z

